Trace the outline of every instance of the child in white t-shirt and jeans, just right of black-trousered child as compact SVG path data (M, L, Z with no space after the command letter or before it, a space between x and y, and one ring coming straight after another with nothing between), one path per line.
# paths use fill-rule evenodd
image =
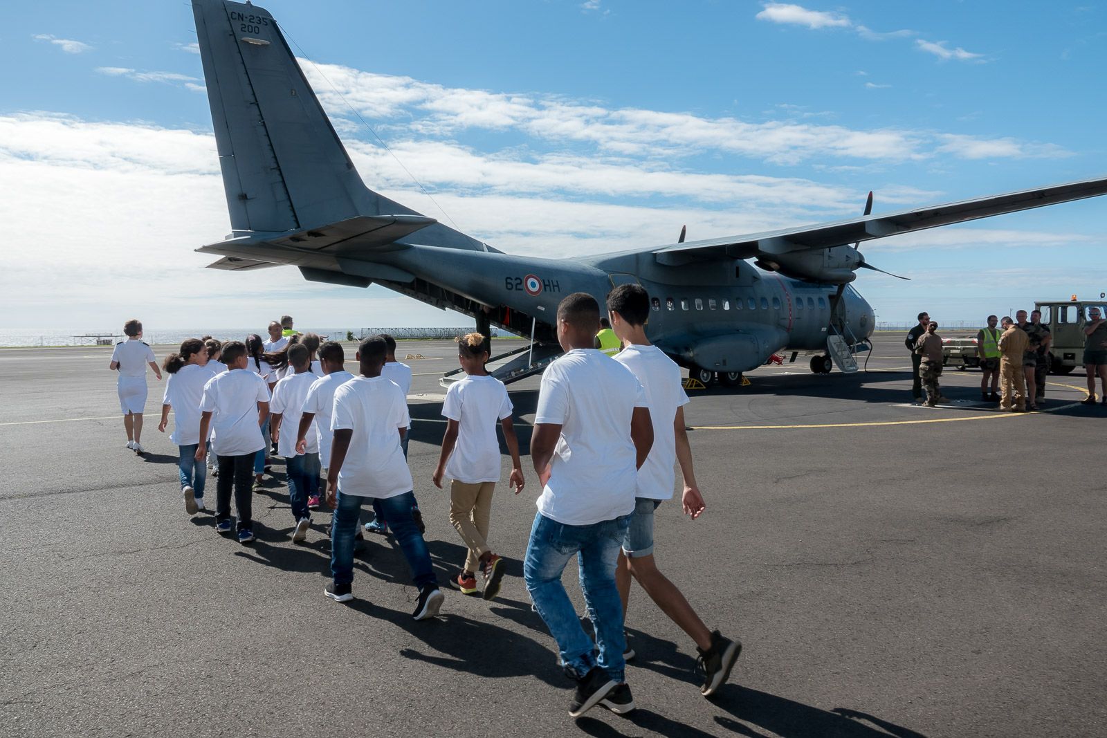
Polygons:
M308 391L315 382L315 375L310 372L311 353L307 346L294 343L288 347L288 363L292 374L277 383L273 387L273 398L269 403L269 427L272 439L277 443L277 453L284 457L284 469L288 472L288 499L292 506L292 518L296 529L292 540L300 542L308 536L311 527L311 511L308 500L314 498L319 507L319 441L312 434L304 449L297 449L297 432L300 427L300 415L303 413L303 401ZM284 420L284 433L281 427Z

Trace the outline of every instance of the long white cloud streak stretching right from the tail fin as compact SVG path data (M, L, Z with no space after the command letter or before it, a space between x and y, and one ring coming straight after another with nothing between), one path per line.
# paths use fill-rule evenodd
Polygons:
M539 142L576 146L588 156L680 160L699 154L737 155L775 164L842 157L882 162L920 160L945 144L925 131L860 131L839 125L692 113L609 108L538 93L496 93L445 87L406 76L373 74L337 64L302 61L332 117L352 106L376 125L401 124L411 135L442 139L468 131L514 131ZM951 153L952 149L945 149ZM952 152L955 154L955 152Z

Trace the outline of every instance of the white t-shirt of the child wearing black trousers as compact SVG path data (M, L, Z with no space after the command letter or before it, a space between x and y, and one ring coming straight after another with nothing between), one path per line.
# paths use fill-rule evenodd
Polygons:
M269 387L254 372L231 370L208 380L200 409L211 413L211 450L219 456L242 456L265 448L258 403L268 402Z

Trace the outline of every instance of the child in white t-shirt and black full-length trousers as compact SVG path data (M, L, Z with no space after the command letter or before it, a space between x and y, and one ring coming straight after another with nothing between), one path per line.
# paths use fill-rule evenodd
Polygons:
M266 447L261 426L269 417L269 387L258 374L247 368L246 344L230 341L223 346L227 371L204 385L200 399L200 438L213 434L211 450L219 456L216 484L215 528L229 533L230 492L235 491L238 510L238 542L254 540L252 488L254 456ZM196 449L196 460L204 461L207 449Z

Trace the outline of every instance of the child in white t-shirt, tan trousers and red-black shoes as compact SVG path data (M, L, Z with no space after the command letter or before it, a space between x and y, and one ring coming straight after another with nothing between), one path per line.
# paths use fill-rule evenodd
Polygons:
M457 361L466 376L452 384L446 392L446 402L442 406L442 414L447 418L446 435L442 439L442 454L433 481L442 489L443 477L451 478L449 522L469 549L465 568L449 583L464 594L476 592L476 571L479 567L484 574L482 596L492 600L499 592L504 579L503 562L488 548L486 540L492 493L499 481L496 420L504 428L504 440L511 454L508 485L516 495L525 484L519 443L511 425L511 401L507 389L503 382L489 376L485 370L485 362L488 361L485 336L468 333L458 339Z

